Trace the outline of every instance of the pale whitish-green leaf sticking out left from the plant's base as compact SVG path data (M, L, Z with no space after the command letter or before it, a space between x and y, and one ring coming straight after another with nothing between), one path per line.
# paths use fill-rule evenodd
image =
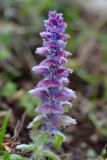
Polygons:
M25 151L36 151L37 147L34 144L20 144L16 147L16 149L22 149Z

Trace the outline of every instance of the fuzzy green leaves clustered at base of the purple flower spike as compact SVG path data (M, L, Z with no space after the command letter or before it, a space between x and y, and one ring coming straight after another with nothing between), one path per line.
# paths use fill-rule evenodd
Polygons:
M54 145L55 147L60 147L61 142L64 140L64 135L61 133L56 133L56 139L53 140L52 136L48 134L41 134L36 130L31 131L31 138L33 143L31 144L21 144L16 147L18 150L32 151L33 157L43 159L44 157L49 157L52 160L59 160L59 157L49 150L49 146ZM44 148L44 145L47 144L47 150Z

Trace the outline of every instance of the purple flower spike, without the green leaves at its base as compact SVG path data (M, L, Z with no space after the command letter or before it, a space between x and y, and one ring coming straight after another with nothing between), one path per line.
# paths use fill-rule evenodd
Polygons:
M36 108L36 112L40 114L33 122L40 121L42 129L52 134L60 130L61 126L76 123L75 119L63 115L64 107L71 107L69 100L76 98L76 95L72 89L66 87L69 83L68 75L72 70L64 67L66 57L71 53L64 50L67 44L64 40L70 36L64 33L67 24L63 21L62 13L49 12L49 19L44 21L44 27L45 31L40 33L43 47L37 48L36 53L46 56L46 59L32 68L44 78L29 93L43 102Z

